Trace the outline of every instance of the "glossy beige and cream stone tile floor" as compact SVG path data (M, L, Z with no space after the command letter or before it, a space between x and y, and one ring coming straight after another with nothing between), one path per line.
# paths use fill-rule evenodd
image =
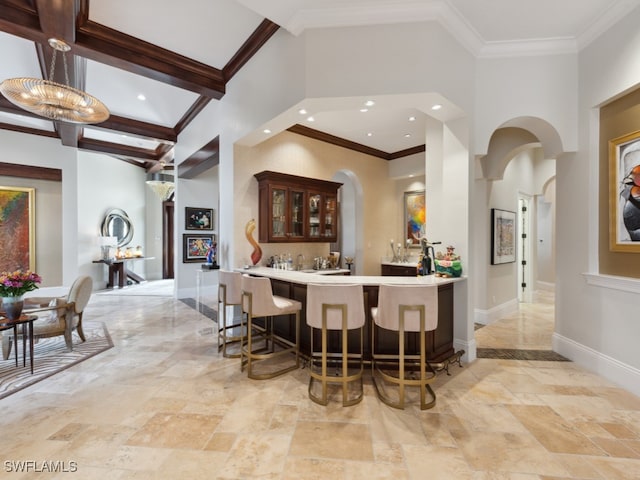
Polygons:
M527 305L517 333L498 322L480 344L544 347L552 310ZM428 411L387 407L370 381L361 404L321 407L304 369L248 380L184 302L94 295L85 315L115 347L0 402L0 478L640 478L640 398L572 362L453 366Z

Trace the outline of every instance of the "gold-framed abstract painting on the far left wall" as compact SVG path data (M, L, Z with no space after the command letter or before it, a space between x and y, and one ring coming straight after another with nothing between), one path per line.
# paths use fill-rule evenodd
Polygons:
M0 187L0 271L36 269L35 188Z

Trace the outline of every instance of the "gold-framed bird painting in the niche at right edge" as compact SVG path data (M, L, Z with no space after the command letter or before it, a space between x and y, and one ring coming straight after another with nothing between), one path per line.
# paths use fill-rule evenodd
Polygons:
M640 131L609 141L609 249L640 252Z

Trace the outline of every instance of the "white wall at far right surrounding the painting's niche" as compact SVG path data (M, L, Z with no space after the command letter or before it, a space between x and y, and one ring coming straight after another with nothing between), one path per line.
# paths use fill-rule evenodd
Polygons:
M636 9L579 56L579 151L557 162L554 335L557 351L636 394L640 394L640 282L598 274L596 109L640 82L639 22ZM585 201L576 203L580 192Z

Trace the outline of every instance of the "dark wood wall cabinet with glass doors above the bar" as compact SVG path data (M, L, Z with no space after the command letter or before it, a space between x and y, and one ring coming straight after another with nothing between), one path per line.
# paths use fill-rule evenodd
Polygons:
M259 189L259 240L336 242L341 183L264 171Z

